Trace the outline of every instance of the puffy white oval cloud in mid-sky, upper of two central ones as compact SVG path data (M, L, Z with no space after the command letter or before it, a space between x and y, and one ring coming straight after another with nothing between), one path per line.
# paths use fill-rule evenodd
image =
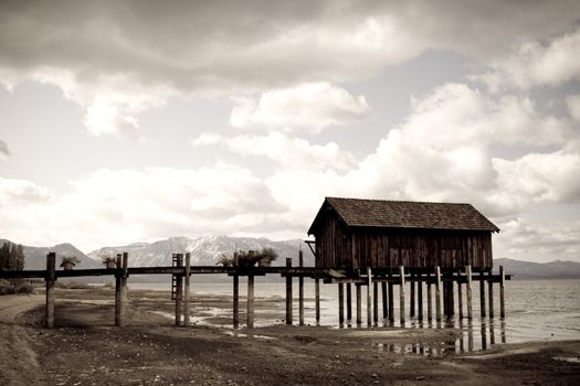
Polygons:
M346 89L328 83L302 84L270 90L256 100L234 99L230 124L236 128L267 128L320 132L329 126L345 125L370 112L365 97L355 98Z

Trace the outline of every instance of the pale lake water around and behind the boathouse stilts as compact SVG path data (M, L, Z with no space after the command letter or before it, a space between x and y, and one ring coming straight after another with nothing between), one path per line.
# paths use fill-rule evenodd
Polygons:
M169 285L129 285L130 288L149 290L169 290ZM294 322L298 318L298 288L297 279L294 281ZM338 325L338 286L324 285L320 282L320 325L328 328L339 328ZM240 278L240 321L243 325L245 321L245 280ZM405 329L436 329L456 328L463 331L463 336L454 342L442 342L441 347L422 347L408 345L404 347L392 345L379 345L378 350L389 350L394 352L416 352L425 354L437 354L444 352L471 352L486 350L494 344L518 343L530 341L551 341L551 340L580 340L580 280L513 280L507 281L505 287L506 294L506 318L499 315L499 290L495 286L495 313L496 318L479 318L479 286L474 282L473 290L473 312L474 319L455 318L441 323L426 321L426 289L423 288L424 321L420 322L416 317L409 317L407 309ZM487 291L487 286L486 286ZM409 288L407 294L409 296ZM433 291L434 292L434 291ZM261 282L256 278L255 296L255 325L266 326L283 324L285 318L285 293L284 281ZM305 279L305 323L315 325L315 302L314 302L314 281ZM197 324L211 324L215 326L231 328L232 309L230 304L223 307L207 307L203 302L196 302L196 298L213 298L219 296L231 297L232 283L208 283L192 282L191 297L194 302L192 322ZM457 296L455 290L455 297ZM379 290L380 297L380 290ZM465 297L465 291L464 291ZM487 292L486 292L487 298ZM346 294L345 294L346 299ZM401 326L399 322L399 293L394 286L394 307L396 321L390 324L388 320L382 320L381 301L379 299L379 323L378 326ZM352 286L352 323L345 328L367 328L366 322L366 287L362 287L362 325L357 326L355 286ZM487 299L486 299L487 302ZM213 302L212 302L213 303ZM409 307L409 299L405 302ZM464 308L466 307L464 298ZM455 299L455 307L457 299ZM434 307L434 301L433 301ZM455 313L457 311L455 310ZM466 310L464 310L466 314ZM346 307L345 307L346 314ZM168 315L169 317L169 315ZM221 317L221 318L220 318ZM434 317L434 310L433 310ZM346 321L346 323L349 323Z

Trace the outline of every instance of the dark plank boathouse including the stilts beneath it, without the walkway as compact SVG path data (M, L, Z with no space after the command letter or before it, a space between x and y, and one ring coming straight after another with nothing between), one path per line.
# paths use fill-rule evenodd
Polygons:
M314 235L315 239L307 243L310 248L315 246L317 268L346 272L345 278L330 280L339 283L340 323L345 319L344 283L347 285L348 320L351 318L350 286L357 283L357 323L360 323L360 277L365 271L369 324L371 309L373 320L378 320L379 281L382 281L383 317L393 321L392 290L397 281L392 278L397 274L400 278L399 313L404 323L405 280L410 283L411 317L416 309L419 320L423 320L423 283L428 290L429 320L432 318L432 283L436 290L436 319L441 320L441 294L443 312L447 318L454 315L454 283L457 283L458 312L463 318L462 286L465 283L467 313L472 318L472 270L479 274L482 317L486 309L484 283L489 283L489 315L493 318L492 234L495 232L499 228L471 204L326 197L308 229L308 235ZM505 274L503 267L499 270L500 314L504 317Z

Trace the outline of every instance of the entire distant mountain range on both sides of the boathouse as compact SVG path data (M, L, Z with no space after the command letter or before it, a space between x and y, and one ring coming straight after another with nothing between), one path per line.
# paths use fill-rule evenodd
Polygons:
M7 242L0 239L0 243ZM55 251L57 265L61 256L76 256L81 262L77 268L101 268L102 258L119 253L129 254L129 267L170 266L171 255L191 253L191 264L197 266L212 266L223 257L230 257L234 250L257 250L273 248L278 258L273 262L276 266L285 265L285 259L292 257L293 266L298 266L298 250L304 250L304 266L314 266L314 255L299 239L273 242L267 238L205 236L199 238L171 237L155 243L136 243L116 247L103 247L84 254L72 244L59 244L53 247L24 246L25 269L43 269L46 254ZM504 266L506 274L514 275L514 279L547 279L547 278L580 278L580 262L550 261L531 262L495 258L494 266Z

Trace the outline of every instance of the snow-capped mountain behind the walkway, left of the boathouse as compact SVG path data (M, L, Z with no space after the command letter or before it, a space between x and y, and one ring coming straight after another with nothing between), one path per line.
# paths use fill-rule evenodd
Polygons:
M304 265L314 266L314 256L308 246L299 239L273 242L267 238L205 236L199 238L171 237L155 243L136 243L118 247L104 247L93 250L88 257L101 261L103 256L114 256L126 251L129 254L130 267L170 266L172 254L191 253L191 264L196 266L215 265L222 255L232 256L235 250L257 250L274 248L278 258L276 266L285 265L286 257L292 257L293 266L298 265L298 250L302 244Z

